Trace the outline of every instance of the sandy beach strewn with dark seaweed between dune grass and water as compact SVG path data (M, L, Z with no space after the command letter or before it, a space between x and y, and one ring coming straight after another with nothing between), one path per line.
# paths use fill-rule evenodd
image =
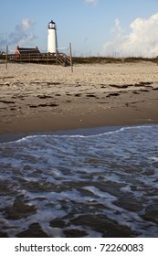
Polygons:
M158 123L158 66L0 63L0 134Z

